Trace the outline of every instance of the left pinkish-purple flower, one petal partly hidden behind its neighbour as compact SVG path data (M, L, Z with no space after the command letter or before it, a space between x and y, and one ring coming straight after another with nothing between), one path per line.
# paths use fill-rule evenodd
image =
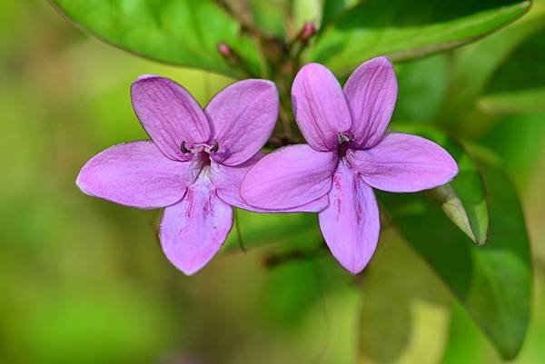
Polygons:
M134 112L151 141L114 145L77 177L92 196L140 209L163 208L159 230L167 258L185 274L219 251L233 226L243 176L263 153L278 116L278 93L265 80L232 84L203 110L190 93L154 75L132 86ZM286 212L318 212L325 198Z

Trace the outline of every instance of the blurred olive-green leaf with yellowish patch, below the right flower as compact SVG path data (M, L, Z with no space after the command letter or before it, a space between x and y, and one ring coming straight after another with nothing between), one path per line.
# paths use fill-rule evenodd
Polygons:
M438 363L452 298L431 267L390 229L363 274L358 363Z

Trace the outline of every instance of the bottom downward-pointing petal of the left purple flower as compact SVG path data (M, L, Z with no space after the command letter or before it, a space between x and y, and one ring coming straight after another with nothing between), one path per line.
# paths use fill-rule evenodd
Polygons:
M233 208L218 198L201 173L183 200L164 209L159 237L173 265L191 275L220 250L233 226Z

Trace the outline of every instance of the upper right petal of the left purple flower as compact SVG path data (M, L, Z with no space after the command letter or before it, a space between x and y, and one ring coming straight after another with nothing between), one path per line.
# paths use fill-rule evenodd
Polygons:
M216 94L205 109L219 147L213 159L237 165L252 158L271 136L278 107L276 86L267 80L239 81Z

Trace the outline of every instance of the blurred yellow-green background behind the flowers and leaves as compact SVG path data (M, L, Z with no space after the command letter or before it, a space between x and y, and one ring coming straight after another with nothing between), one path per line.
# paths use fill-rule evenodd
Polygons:
M530 41L543 44L543 34ZM542 52L528 47L520 45L515 54ZM436 55L401 64L397 119L429 120L436 105L448 103L450 59ZM239 212L243 234L268 244L226 251L185 277L159 248L159 212L78 191L74 179L86 160L145 137L129 99L138 75L169 76L201 103L230 79L99 43L39 0L1 2L0 62L0 363L501 362L395 229L382 231L372 264L354 278L329 254L264 264L290 244L319 242L315 230L294 228L312 224L314 216L292 215L286 218L292 225L268 231L279 217ZM519 75L515 79L529 77L524 64L505 67L504 74ZM497 84L492 93L501 80ZM530 330L514 362L541 363L545 111L504 114L494 107L508 105L501 99L480 102L482 110L494 111L494 122L483 126L466 117L464 133L505 161L533 250ZM227 248L237 243L235 231L231 235Z

